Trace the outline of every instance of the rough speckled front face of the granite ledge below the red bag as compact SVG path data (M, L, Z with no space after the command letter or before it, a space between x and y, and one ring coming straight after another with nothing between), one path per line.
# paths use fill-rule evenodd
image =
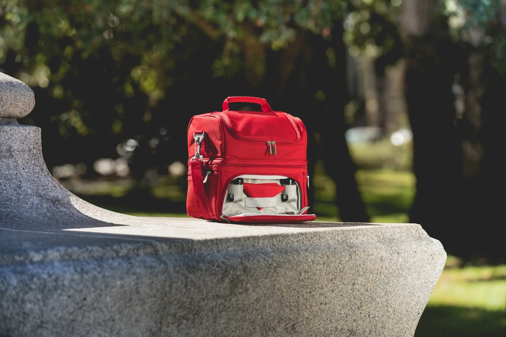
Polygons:
M412 336L446 254L426 235L364 231L3 266L0 334Z

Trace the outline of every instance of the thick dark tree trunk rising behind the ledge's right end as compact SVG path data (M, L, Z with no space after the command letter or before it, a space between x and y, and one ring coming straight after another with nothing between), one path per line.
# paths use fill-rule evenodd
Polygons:
M454 126L453 44L436 34L435 3L403 2L402 34L406 46L406 103L413 131L416 195L410 221L418 223L445 248L454 243L458 209L460 150ZM451 250L450 250L451 251Z

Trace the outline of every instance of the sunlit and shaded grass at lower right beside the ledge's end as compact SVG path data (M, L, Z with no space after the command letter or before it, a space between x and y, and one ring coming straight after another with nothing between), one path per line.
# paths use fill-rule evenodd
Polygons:
M415 337L506 336L506 266L443 270Z

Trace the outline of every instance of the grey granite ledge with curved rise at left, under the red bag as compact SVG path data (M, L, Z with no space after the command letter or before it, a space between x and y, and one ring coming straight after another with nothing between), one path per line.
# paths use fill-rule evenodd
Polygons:
M0 125L0 336L412 336L445 260L416 224L110 212Z

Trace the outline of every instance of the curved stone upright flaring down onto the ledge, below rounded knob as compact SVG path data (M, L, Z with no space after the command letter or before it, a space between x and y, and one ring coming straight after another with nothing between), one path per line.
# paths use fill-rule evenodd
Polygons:
M0 221L39 228L91 223L121 223L132 216L97 207L67 191L48 171L41 130L0 125Z

